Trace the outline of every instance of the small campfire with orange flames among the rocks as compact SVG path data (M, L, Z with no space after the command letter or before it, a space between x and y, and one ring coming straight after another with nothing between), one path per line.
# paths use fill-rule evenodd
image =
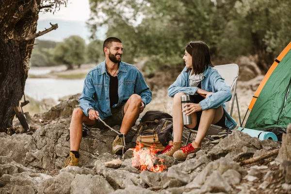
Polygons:
M159 150L154 149L151 146L150 149L143 147L142 144L137 144L133 150L132 166L143 170L148 170L151 172L161 172L166 166L163 165L164 160L157 158L155 155Z

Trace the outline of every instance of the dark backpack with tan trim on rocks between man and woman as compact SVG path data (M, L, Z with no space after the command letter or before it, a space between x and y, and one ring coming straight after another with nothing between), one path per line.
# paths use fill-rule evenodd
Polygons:
M162 111L148 111L140 119L137 126L137 134L133 137L132 142L141 143L144 147L162 151L165 146L173 140L173 117Z

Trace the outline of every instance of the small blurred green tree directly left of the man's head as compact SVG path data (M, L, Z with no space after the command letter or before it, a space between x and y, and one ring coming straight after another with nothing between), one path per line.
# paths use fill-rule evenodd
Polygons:
M100 57L103 55L103 41L94 40L87 46L87 63L98 63Z

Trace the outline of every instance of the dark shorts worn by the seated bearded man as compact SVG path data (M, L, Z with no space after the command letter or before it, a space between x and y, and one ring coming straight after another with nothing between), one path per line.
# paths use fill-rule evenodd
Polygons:
M111 108L112 115L107 117L107 118L105 118L103 121L107 125L109 125L110 127L113 127L115 125L121 125L123 117L124 117L124 112L123 112L124 105L121 105L121 106L119 106L117 108ZM84 123L84 125L86 127L89 127L89 128L98 128L98 129L107 128L101 121L98 121L98 120L96 120L96 123L93 126L88 126L85 123Z

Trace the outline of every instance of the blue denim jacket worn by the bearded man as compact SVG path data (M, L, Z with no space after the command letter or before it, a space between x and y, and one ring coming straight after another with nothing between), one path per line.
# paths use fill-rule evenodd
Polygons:
M145 106L151 101L152 92L146 85L142 73L135 66L120 62L117 78L119 100L117 104L113 105L113 108L125 104L132 94L141 96ZM98 111L101 119L112 115L109 99L109 81L110 77L106 73L105 61L91 69L87 74L79 99L80 107L86 116L89 116L89 109Z

